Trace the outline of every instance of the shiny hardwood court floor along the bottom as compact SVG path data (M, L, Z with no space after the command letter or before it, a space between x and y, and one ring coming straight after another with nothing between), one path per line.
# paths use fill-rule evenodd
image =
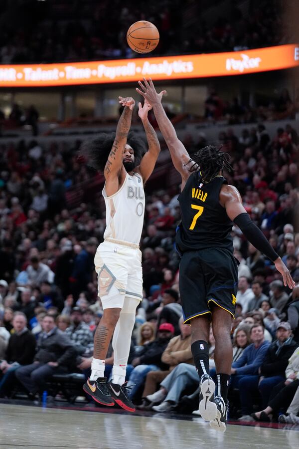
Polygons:
M298 449L296 430L231 424L221 434L201 418L0 404L0 449Z

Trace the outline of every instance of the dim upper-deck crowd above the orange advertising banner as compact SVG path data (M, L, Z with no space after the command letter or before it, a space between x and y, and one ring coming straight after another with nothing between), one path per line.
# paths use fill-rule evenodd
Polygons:
M244 12L238 1L228 1L225 13L209 20L203 19L202 2L15 3L8 1L5 7L4 2L0 11L2 64L132 57L126 33L137 20L149 20L159 29L160 42L154 55L244 50L287 43L291 38L280 1L251 1Z

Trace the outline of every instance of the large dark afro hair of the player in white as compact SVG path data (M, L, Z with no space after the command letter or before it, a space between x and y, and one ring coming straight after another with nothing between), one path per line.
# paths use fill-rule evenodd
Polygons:
M105 165L112 149L116 133L102 133L95 139L86 140L79 149L79 156L83 157L86 164L100 172L104 172ZM128 133L127 144L134 150L135 167L140 164L146 146L142 137L133 131Z

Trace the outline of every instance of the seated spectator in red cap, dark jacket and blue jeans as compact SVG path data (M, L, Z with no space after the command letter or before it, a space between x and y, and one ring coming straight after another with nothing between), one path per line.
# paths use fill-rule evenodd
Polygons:
M149 371L167 370L168 365L162 362L161 357L169 340L174 335L174 327L171 323L162 323L158 327L157 337L144 346L139 357L133 359L132 371L128 384L131 387L131 399L134 400L140 387L145 383Z

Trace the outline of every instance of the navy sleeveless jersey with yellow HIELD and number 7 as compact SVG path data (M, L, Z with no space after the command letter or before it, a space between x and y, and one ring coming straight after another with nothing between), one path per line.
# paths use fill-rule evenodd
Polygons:
M223 184L226 184L223 176L217 176L207 184L198 173L188 178L178 197L181 213L175 237L178 251L219 247L233 252L233 223L219 203Z

